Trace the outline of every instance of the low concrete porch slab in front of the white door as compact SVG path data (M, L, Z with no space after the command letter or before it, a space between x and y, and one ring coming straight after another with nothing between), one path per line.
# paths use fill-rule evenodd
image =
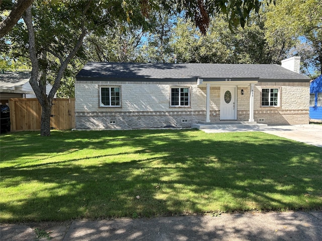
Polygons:
M217 130L237 130L237 129L260 129L267 127L266 124L257 124L256 122L218 122L218 123L196 123L191 124L191 128L196 129L217 129Z

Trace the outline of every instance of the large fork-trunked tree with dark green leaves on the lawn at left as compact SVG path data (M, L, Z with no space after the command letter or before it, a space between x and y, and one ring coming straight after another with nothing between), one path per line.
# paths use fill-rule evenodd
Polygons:
M30 84L42 106L42 136L50 135L52 99L60 87L68 64L74 57L82 54L79 50L85 36L88 33L100 36L105 33L106 27L113 27L114 23L123 21L142 28L147 27L140 2L36 2L33 6L33 19L31 11L26 11L24 22L28 28L29 54L32 62ZM46 95L44 86L50 76L53 76L53 87Z

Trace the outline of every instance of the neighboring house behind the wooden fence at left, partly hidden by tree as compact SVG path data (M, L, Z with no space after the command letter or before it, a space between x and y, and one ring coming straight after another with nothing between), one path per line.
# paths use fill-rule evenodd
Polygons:
M9 103L10 98L36 98L29 80L31 74L28 71L0 73L0 102L1 104ZM52 86L47 84L46 92L49 93Z

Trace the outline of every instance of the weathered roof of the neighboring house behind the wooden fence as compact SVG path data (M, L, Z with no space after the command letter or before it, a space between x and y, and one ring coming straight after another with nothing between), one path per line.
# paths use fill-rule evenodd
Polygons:
M24 88L29 82L30 72L5 72L0 74L0 91L6 93L34 93L31 86ZM28 83L29 84L29 83Z

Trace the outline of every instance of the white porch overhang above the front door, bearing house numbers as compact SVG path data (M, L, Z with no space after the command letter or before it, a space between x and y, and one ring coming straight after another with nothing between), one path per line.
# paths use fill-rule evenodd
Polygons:
M248 86L250 84L257 84L259 77L252 78L198 78L197 85L205 87L207 84L211 86Z

